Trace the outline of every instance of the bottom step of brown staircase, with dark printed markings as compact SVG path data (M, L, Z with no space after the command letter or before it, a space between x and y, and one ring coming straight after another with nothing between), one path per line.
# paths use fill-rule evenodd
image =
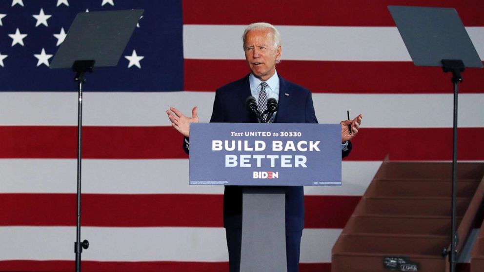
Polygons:
M387 253L334 253L331 259L332 272L388 272L383 268L383 259L391 257ZM401 257L402 255L399 255ZM443 272L446 259L435 255L405 254L407 261L418 263L419 271ZM399 270L397 270L399 271Z

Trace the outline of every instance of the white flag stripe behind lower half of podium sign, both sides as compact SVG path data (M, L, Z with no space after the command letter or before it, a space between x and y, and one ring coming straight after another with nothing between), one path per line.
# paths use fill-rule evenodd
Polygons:
M343 161L341 187L305 187L312 195L363 195L381 162ZM76 193L75 159L0 159L0 193ZM82 160L82 193L223 194L188 185L187 159Z

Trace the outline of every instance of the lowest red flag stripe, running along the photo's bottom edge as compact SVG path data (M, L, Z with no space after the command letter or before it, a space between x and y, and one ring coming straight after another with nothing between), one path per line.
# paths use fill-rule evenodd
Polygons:
M0 261L0 271L72 272L74 261ZM84 272L228 272L228 262L96 262L82 261ZM330 263L301 263L301 272L331 272Z

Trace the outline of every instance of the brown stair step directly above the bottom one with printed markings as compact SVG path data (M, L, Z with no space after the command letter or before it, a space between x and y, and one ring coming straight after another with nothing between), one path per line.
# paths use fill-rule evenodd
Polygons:
M439 256L449 245L449 237L444 235L409 235L351 233L341 234L342 252L346 253L387 253L421 254Z

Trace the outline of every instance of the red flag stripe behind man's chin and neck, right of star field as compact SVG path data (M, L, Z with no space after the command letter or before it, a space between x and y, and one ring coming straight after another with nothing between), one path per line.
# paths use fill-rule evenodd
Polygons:
M314 93L453 92L451 74L444 73L440 67L418 67L411 61L283 60L277 65L277 71L283 78ZM185 59L184 89L215 91L248 73L245 60ZM484 93L484 69L467 69L462 76L464 82L459 85L459 93Z

